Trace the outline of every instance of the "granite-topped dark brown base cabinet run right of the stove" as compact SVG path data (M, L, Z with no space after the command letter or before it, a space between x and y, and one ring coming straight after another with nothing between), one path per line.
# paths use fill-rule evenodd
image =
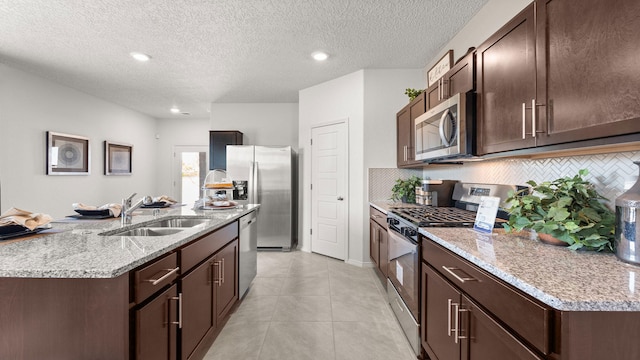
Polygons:
M470 359L640 358L640 267L612 253L544 244L529 233L420 234L421 340L430 356L451 350ZM447 302L456 319L451 337L441 317Z

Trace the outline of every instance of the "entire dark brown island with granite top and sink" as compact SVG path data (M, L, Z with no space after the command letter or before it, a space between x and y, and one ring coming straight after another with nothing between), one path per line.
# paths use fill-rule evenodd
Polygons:
M258 208L64 220L0 243L0 359L202 358L238 299L238 219ZM202 223L116 234L184 218Z

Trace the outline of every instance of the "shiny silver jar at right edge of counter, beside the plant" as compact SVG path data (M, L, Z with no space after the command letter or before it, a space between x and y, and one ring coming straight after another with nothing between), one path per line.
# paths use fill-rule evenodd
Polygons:
M634 161L640 166L640 161ZM625 193L616 198L616 256L625 262L640 264L640 226L637 215L640 210L640 178Z

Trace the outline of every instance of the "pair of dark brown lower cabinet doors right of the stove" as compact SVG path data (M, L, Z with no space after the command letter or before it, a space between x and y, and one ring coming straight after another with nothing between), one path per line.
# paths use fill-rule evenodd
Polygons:
M541 360L471 299L422 264L423 342L432 360Z

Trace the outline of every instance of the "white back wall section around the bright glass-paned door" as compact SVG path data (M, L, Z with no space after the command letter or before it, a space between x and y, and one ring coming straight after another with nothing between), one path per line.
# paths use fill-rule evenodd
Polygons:
M158 156L157 194L177 199L173 181L178 181L174 169L175 146L204 146L209 151L209 119L158 119L156 122L156 154ZM209 165L207 164L207 169Z

